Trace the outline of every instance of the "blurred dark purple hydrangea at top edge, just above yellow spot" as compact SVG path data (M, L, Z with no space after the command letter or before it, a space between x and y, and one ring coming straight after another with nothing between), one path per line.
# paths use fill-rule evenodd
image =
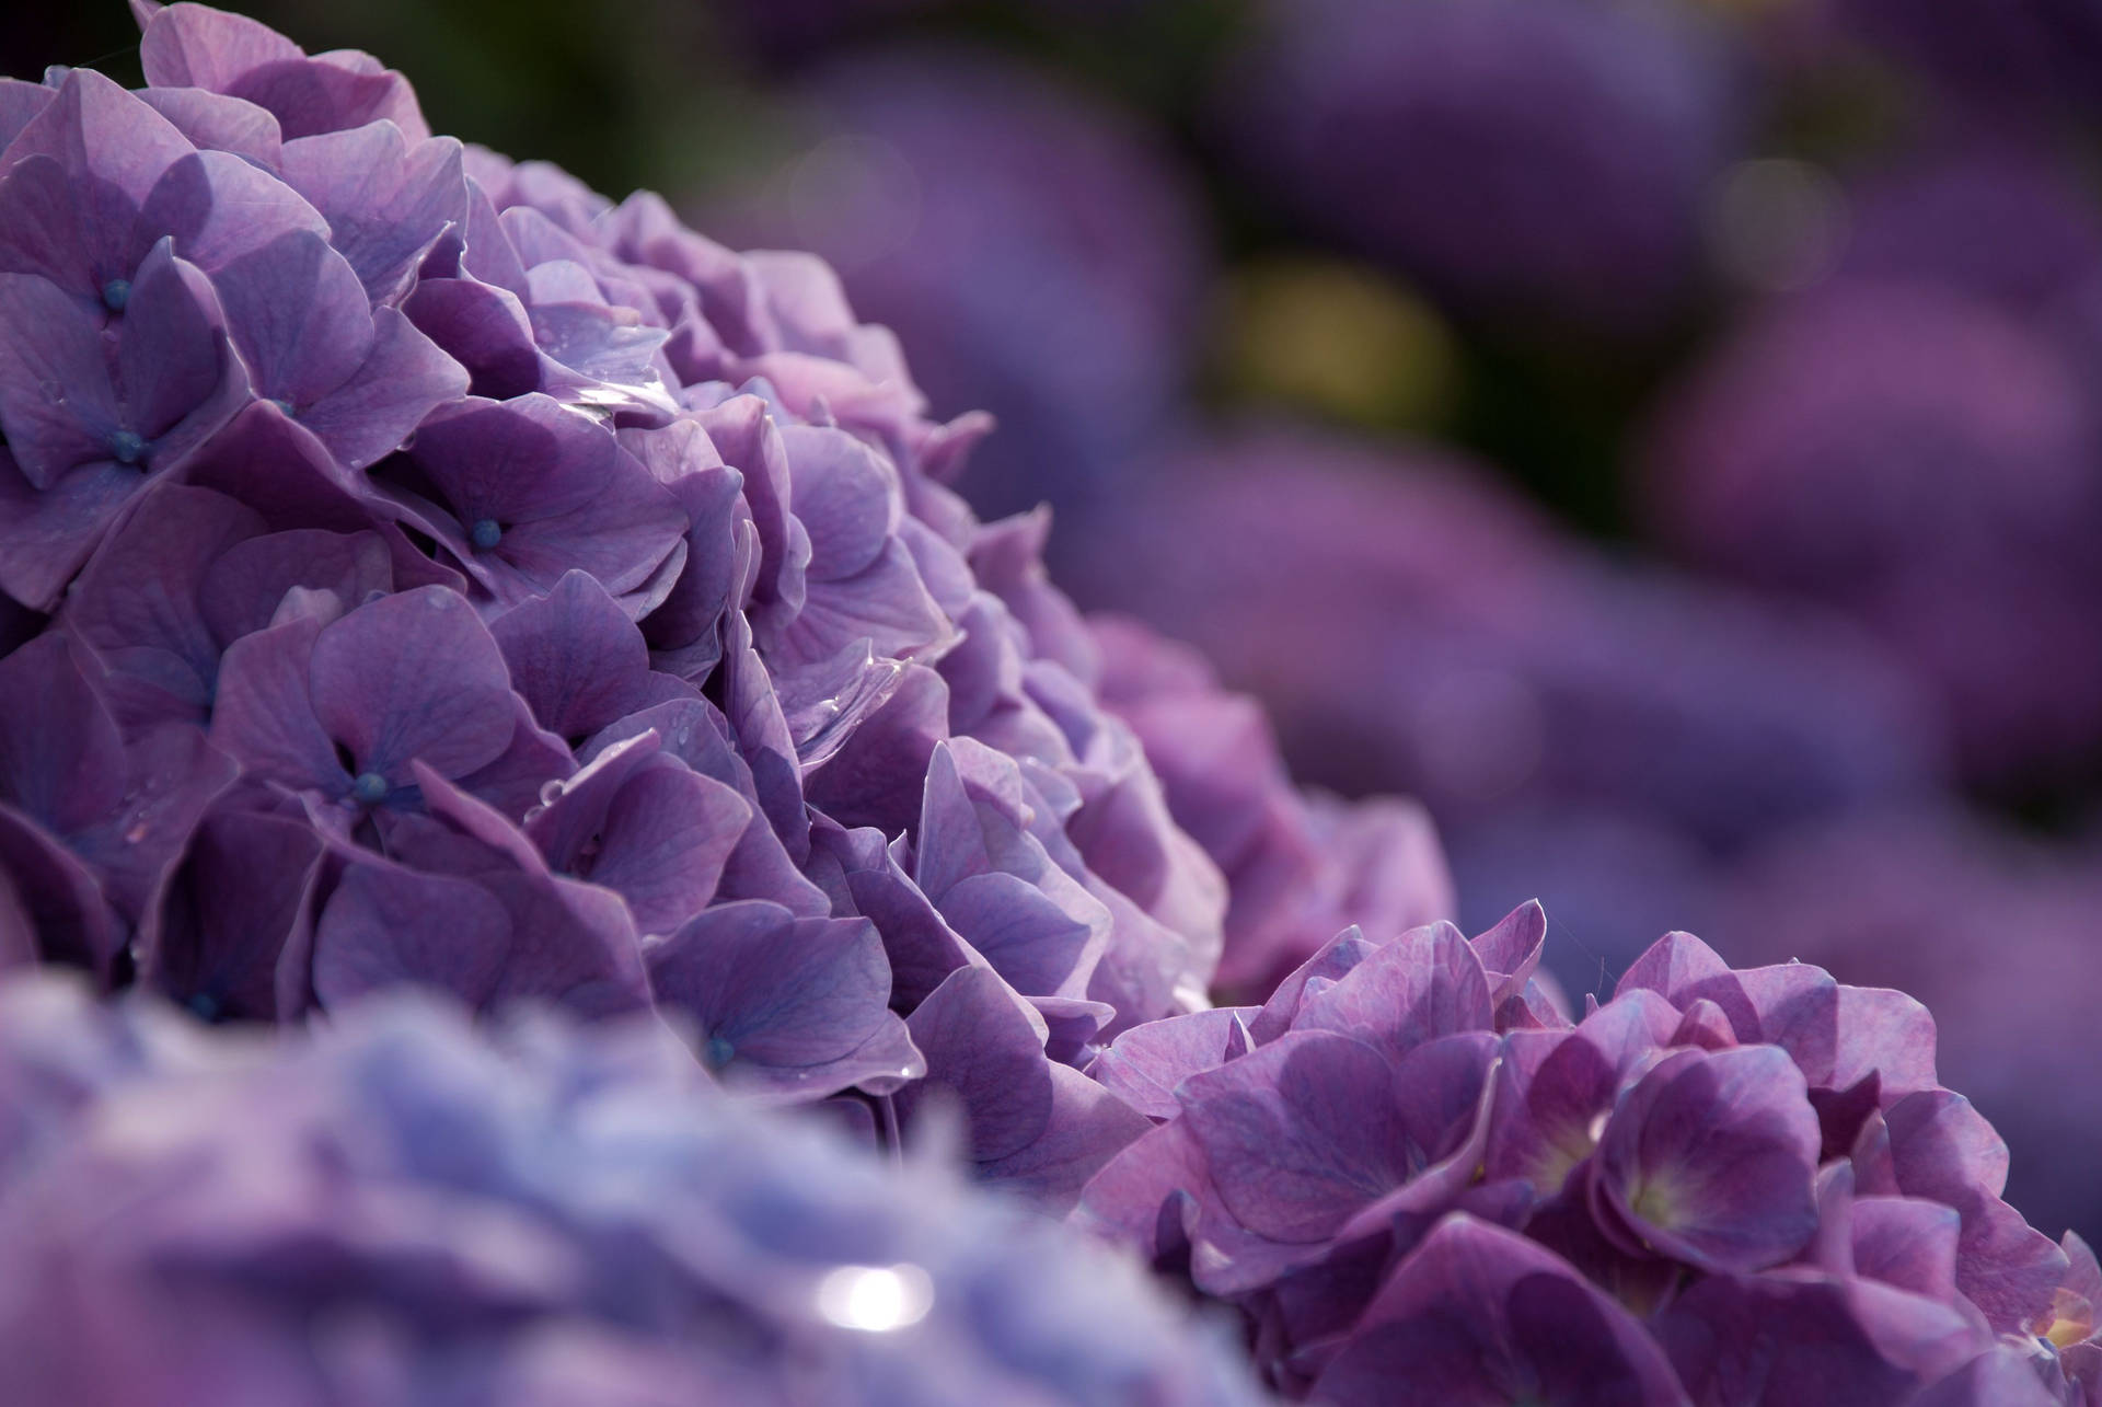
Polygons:
M1717 36L1679 6L1261 6L1219 124L1320 233L1495 320L1654 330L1736 145Z

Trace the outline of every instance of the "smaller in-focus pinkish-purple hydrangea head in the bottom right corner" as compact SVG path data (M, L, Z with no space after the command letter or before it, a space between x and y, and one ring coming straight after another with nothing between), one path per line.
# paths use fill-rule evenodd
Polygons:
M2096 1401L2094 1260L2001 1201L1919 1003L1671 934L1572 1020L1543 938L1352 930L1125 1033L1095 1075L1156 1127L1078 1220L1339 1407Z

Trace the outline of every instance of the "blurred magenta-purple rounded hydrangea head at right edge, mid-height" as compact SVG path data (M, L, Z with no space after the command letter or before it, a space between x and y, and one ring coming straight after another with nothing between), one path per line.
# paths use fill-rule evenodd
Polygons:
M2003 780L2091 749L2094 446L2081 368L2041 328L1846 276L1766 309L1665 408L1652 515L1684 555L1879 633Z

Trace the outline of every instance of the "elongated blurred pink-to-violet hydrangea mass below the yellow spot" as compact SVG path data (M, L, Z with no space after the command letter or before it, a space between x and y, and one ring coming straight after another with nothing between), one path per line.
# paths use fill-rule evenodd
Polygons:
M1421 797L1455 850L1545 803L1726 850L1942 778L1938 713L1860 631L1608 564L1448 456L1200 442L1085 551L1070 580L1259 696L1299 776Z

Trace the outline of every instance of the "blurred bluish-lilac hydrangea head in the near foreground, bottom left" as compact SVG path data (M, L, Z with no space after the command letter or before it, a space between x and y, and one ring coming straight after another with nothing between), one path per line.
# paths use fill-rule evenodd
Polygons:
M271 1045L0 986L0 1247L11 1401L1261 1401L937 1159L723 1098L662 1028L425 997Z

